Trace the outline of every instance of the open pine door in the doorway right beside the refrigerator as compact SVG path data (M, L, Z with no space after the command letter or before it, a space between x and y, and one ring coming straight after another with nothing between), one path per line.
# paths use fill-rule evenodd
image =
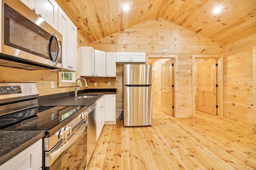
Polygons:
M173 69L172 59L162 63L161 110L173 116Z

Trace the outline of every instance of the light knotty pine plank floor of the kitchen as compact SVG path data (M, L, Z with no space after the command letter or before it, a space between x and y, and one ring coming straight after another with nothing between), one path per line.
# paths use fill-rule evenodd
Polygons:
M152 127L104 125L88 170L255 170L256 128L196 113L174 118L153 107Z

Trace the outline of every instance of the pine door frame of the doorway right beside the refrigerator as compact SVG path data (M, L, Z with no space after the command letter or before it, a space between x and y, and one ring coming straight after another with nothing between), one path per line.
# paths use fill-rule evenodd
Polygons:
M148 59L173 59L173 117L178 117L178 55L168 55L168 57L147 57Z

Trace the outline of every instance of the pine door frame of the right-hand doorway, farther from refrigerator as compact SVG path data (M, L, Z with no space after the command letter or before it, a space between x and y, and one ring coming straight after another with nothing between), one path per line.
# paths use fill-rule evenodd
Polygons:
M196 116L196 63L195 59L217 59L217 116L223 117L223 111L224 111L224 82L223 82L223 55L192 55L192 117Z

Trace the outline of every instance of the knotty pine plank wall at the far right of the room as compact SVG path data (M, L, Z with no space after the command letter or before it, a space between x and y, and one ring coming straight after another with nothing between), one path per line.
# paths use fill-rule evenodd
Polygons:
M224 117L250 125L256 124L253 107L255 39L256 35L251 35L224 46Z

